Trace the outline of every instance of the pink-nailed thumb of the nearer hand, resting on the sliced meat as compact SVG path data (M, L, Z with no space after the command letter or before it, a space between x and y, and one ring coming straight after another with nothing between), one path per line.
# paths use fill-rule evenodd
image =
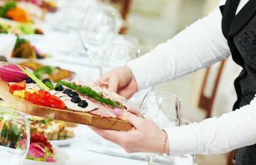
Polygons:
M114 109L114 112L119 119L130 122L136 129L140 127L140 123L143 120L143 118L138 117L127 110Z

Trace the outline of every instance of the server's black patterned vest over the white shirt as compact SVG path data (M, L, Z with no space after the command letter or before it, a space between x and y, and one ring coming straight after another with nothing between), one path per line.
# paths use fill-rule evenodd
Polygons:
M233 110L249 104L256 94L256 0L249 0L235 15L239 2L227 0L220 7L222 30L232 58L243 68L234 82L237 101ZM237 149L235 161L236 165L256 165L256 144Z

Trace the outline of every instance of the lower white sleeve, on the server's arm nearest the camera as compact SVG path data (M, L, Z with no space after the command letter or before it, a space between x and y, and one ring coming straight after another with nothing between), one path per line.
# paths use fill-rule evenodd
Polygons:
M170 155L220 154L256 144L256 98L219 118L165 129Z

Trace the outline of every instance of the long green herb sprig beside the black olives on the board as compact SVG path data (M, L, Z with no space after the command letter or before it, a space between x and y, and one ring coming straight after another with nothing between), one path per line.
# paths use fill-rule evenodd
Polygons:
M101 92L97 93L89 86L78 86L74 83L69 83L69 82L65 82L65 81L61 81L60 83L70 89L76 90L77 92L79 92L81 94L87 95L91 99L96 100L100 103L106 104L111 107L123 108L123 105L121 103L118 104L115 101L104 98Z

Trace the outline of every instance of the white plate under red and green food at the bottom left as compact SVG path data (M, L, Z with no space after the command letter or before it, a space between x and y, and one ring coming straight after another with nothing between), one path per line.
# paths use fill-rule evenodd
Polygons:
M53 151L55 153L55 159L57 162L39 162L26 159L24 165L64 165L70 162L70 156L60 147L53 145Z

